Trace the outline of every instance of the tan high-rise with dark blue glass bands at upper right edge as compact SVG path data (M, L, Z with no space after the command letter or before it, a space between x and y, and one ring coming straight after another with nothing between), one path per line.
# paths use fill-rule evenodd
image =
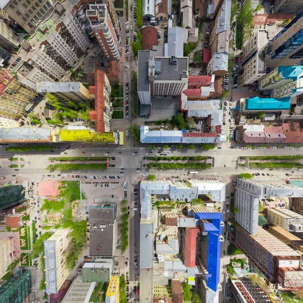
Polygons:
M301 65L303 59L303 11L289 22L270 42L266 67Z

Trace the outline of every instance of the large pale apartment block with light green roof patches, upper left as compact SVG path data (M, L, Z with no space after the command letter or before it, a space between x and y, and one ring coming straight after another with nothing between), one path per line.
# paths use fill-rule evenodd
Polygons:
M83 27L84 28L84 27ZM53 80L61 80L88 49L90 38L71 11L53 14L22 42L19 56Z

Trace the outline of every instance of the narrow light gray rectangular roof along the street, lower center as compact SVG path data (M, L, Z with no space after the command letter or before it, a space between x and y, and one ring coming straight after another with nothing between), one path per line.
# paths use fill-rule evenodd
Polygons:
M140 270L153 269L154 224L140 224Z

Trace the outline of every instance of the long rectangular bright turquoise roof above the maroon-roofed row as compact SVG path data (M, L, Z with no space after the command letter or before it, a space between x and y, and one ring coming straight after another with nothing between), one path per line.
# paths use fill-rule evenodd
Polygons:
M290 97L245 99L246 111L283 111L290 109Z

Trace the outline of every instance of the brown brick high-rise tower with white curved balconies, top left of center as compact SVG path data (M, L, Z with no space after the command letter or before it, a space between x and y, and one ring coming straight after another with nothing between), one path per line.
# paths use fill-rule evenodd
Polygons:
M120 60L121 25L112 0L89 5L86 11L91 29L109 60Z

